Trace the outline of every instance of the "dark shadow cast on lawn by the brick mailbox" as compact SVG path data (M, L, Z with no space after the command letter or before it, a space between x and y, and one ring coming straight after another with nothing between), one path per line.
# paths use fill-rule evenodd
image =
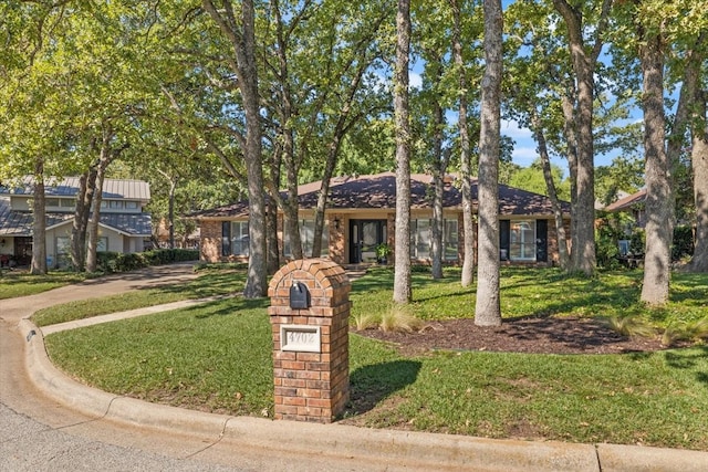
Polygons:
M365 413L391 395L415 382L421 365L416 360L393 360L354 370L350 375L347 413Z

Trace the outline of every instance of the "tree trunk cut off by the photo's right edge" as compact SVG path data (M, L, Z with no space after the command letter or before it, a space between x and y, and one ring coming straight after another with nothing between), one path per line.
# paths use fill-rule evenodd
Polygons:
M691 167L694 169L694 200L696 202L696 247L689 269L708 272L708 125L706 124L706 92L697 94L697 123L694 125Z

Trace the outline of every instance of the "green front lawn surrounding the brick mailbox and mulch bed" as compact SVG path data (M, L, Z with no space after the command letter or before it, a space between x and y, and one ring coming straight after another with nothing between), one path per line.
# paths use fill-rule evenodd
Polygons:
M414 276L414 313L473 315L458 272ZM206 275L208 279L212 275ZM647 311L641 273L585 281L554 270L504 270L506 317L634 313L658 326L706 314L708 276L676 274L671 302ZM354 282L353 317L389 305L389 270ZM58 333L53 361L115 394L205 411L272 413L268 300L231 298ZM403 357L351 335L351 408L344 421L491 438L642 443L708 451L708 346L626 355L436 353Z

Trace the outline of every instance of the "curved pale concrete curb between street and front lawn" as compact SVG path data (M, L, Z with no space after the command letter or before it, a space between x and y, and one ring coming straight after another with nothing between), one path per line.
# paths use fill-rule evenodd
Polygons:
M32 382L53 400L93 419L199 436L212 442L301 454L410 464L420 470L699 472L708 453L621 444L492 440L466 436L365 429L345 424L273 421L150 403L82 385L50 361L42 331L19 323Z

